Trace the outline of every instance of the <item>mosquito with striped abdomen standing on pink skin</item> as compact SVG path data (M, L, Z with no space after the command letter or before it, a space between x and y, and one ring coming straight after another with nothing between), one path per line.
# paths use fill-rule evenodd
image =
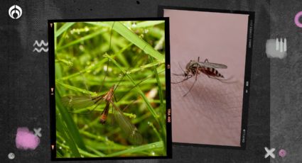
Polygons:
M195 77L195 81L190 87L189 91L185 93L183 96L186 96L191 89L193 88L195 82L197 81L198 74L206 74L207 77L212 79L217 79L219 81L222 81L225 77L223 77L220 72L217 71L217 69L227 69L227 65L225 64L218 64L218 63L211 63L209 60L205 59L204 62L200 62L200 57L198 57L198 60L190 60L188 64L185 66L185 71L183 70L183 74L174 74L176 76L183 76L185 79L178 81L178 82L171 82L171 84L178 84L183 81L186 81L190 79L191 77Z

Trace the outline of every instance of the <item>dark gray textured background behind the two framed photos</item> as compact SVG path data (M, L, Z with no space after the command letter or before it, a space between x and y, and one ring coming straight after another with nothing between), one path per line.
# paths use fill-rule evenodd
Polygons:
M18 20L8 15L14 4L23 9ZM264 159L264 147L276 148L276 159L271 162L301 161L302 50L298 39L302 28L293 23L302 10L299 0L4 0L0 5L0 162L50 162L48 53L33 52L35 40L48 39L48 19L156 17L158 5L255 11L247 149L173 146L173 159L102 162L269 162ZM288 39L288 56L283 60L268 59L265 54L266 40L276 37ZM36 150L16 149L18 127L42 128ZM281 148L288 152L284 158L277 154ZM15 159L7 157L9 152L14 152Z

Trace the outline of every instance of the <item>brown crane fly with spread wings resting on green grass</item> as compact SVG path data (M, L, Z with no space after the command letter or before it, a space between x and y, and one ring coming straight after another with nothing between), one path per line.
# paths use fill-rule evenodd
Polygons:
M142 137L137 128L130 122L128 118L124 116L122 111L114 104L114 85L107 91L107 93L100 96L63 96L61 101L63 106L68 108L87 108L89 106L96 105L95 108L100 103L105 102L106 106L99 116L99 122L104 124L107 120L109 113L110 104L112 105L112 112L114 114L114 119L117 120L119 127L127 135L130 142L139 145L142 142ZM93 108L92 111L95 109Z

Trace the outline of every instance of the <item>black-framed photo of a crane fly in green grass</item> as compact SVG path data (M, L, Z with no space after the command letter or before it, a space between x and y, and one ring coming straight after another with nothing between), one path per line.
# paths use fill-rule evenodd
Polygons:
M168 18L48 28L52 159L171 157Z

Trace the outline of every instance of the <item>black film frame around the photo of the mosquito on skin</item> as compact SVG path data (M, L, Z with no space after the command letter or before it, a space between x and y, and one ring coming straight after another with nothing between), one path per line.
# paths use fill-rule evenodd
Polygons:
M190 7L180 7L180 6L158 6L158 16L165 16L164 10L178 10L178 11L201 11L201 12L212 12L212 13L236 13L248 15L248 25L247 25L247 42L246 42L246 56L245 56L245 67L244 67L244 83L243 87L243 99L242 99L242 122L241 122L241 135L240 135L240 146L229 146L229 145L209 145L209 144L198 144L198 143L187 143L187 142L175 142L173 139L173 145L180 146L196 146L196 147L218 147L226 149L237 149L245 150L247 143L247 118L248 118L248 108L249 108L249 87L251 81L251 67L252 67L252 47L253 47L253 32L254 32L254 12L253 11L232 11L232 10L221 10L221 9L200 9L200 8L190 8ZM165 16L166 17L166 16ZM196 20L198 21L198 20ZM173 25L170 19L170 32ZM174 25L175 26L175 25ZM184 29L185 30L185 29ZM173 33L170 33L173 35ZM193 35L194 37L194 35ZM171 41L172 42L172 41ZM171 47L172 47L171 43ZM173 54L171 52L171 64L172 64ZM196 58L193 58L196 60ZM192 59L192 60L193 60ZM172 72L173 73L173 72ZM172 80L172 79L171 79ZM172 88L172 86L171 86ZM172 88L173 89L173 88ZM171 97L172 98L172 97ZM171 106L173 107L173 98L171 99ZM189 107L188 107L189 108ZM184 109L184 108L183 108ZM174 118L175 110L174 110ZM173 129L178 126L173 126ZM190 133L194 134L194 133Z

